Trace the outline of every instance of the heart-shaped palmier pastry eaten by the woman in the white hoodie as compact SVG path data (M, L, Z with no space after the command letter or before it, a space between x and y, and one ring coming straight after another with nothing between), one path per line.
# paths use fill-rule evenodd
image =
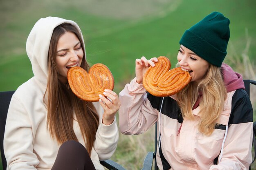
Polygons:
M104 89L113 90L114 78L110 70L104 64L94 64L90 70L85 71L81 67L72 67L67 71L67 81L72 92L85 101L99 101L99 94Z

